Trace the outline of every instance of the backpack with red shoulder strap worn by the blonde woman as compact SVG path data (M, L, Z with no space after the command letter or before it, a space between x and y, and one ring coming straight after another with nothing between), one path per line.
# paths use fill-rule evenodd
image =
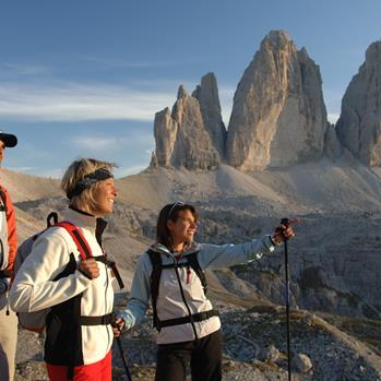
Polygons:
M67 231L72 237L73 241L75 242L75 246L81 254L82 260L88 259L92 255L92 250L86 241L86 239L83 237L80 229L69 222L58 222L58 215L56 212L52 212L47 217L47 227L43 231L37 233L36 235L27 238L17 249L16 258L14 261L14 274L20 271L23 262L27 258L27 255L32 252L33 245L36 241L36 239L45 233L47 229L53 226L63 227L67 229ZM63 270L64 272L64 270ZM62 273L63 273L62 272ZM58 281L60 277L64 276L64 274L58 274L52 281ZM118 279L119 281L119 279ZM19 315L19 322L20 324L33 332L43 332L45 329L45 322L46 318L50 312L50 308L36 311L36 312L17 312Z

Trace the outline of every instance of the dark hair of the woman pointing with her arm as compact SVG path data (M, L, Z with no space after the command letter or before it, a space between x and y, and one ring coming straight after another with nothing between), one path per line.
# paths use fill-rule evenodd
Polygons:
M199 215L195 212L194 206L183 202L167 204L158 214L156 224L156 241L157 243L164 245L169 250L172 250L174 242L167 226L167 222L170 219L176 223L179 218L180 212L182 211L190 211L194 217L194 221L197 222L199 219Z

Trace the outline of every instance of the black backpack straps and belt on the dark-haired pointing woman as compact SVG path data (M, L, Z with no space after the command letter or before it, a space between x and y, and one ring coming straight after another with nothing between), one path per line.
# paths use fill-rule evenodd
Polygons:
M192 253L188 254L186 257L187 262L163 264L160 253L158 253L152 249L150 249L147 251L147 254L150 257L152 267L153 267L152 273L151 273L151 298L152 298L152 309L153 309L153 325L157 331L160 331L162 326L182 324L183 320L188 320L188 318L190 318L190 317L186 317L187 319L183 319L183 318L174 319L174 321L171 321L170 323L165 323L165 324L164 324L164 322L159 321L159 319L157 317L156 305L157 305L158 287L159 287L159 283L160 283L160 276L162 276L163 269L176 269L176 267L191 266L192 270L194 271L194 273L200 278L201 285L202 285L203 290L204 290L204 295L206 295L206 291L207 291L206 277L205 277L203 270L200 266L200 263L198 260L198 253L199 252L197 251L197 252L192 252ZM202 317L201 317L201 314L202 314ZM205 313L200 313L200 318L210 318L210 317L206 317ZM201 320L204 320L204 319L201 319Z

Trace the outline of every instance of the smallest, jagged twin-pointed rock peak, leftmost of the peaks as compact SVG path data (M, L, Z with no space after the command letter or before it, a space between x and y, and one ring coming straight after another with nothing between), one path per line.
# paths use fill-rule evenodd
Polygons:
M219 166L226 130L214 75L205 75L193 94L190 96L180 86L171 112L166 108L156 114L156 153L151 167L214 169Z

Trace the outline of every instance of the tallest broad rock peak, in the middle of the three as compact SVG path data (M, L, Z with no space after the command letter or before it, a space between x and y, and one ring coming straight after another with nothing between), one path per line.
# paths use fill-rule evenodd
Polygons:
M328 128L319 67L284 32L271 32L234 98L228 163L283 167L323 155Z

